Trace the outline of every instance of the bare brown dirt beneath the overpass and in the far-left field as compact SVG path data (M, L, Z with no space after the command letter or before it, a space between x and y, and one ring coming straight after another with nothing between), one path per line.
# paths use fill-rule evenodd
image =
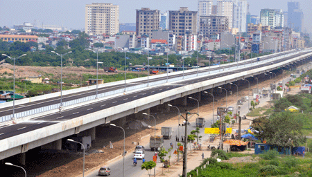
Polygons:
M60 74L60 67L36 67L36 66L16 66L17 68L17 77L26 77L26 76L37 76L42 75L42 73L50 73L53 75L59 75ZM63 68L64 75L70 74L70 73L90 73L90 74L96 74L96 69L86 69L86 68L74 68L74 67L65 67ZM12 66L10 64L1 64L0 65L0 74L3 74L4 72L12 73ZM275 77L275 82L277 83L279 80L281 80L281 75L277 75L277 78ZM259 82L261 82L261 78L259 78ZM263 82L259 83L259 86L257 84L250 83L250 93L252 93L252 88L262 88L264 86L268 86L272 81L271 80L264 80ZM257 83L257 82L256 82ZM241 90L239 90L239 97L243 97L245 95L248 95L248 85L247 86L239 86ZM225 97L215 97L215 100L218 100L215 102L215 109L218 106L225 106ZM236 94L229 95L227 97L228 104L234 104L236 103L237 97ZM202 99L200 102L200 116L201 117L209 117L212 113L212 103L207 102L207 100ZM193 102L193 106L186 107L186 106L179 106L179 109L188 111L197 112L197 102ZM183 111L184 112L184 111ZM154 112L155 113L155 112ZM153 112L151 111L151 114ZM155 114L156 115L156 114ZM166 124L177 124L177 113L176 111L168 111L168 112L162 112L157 113L157 133L160 134L160 128L166 126ZM195 119L193 119L195 121ZM153 120L146 120L147 124L153 125ZM113 131L114 140L112 140L112 145L114 146L113 149L109 148L109 145L107 142L107 138L101 137L98 132L96 132L96 140L93 144L93 147L86 151L85 156L85 170L86 172L89 169L99 167L100 165L104 165L105 162L108 160L112 160L116 158L117 156L121 156L121 153L123 151L123 138L122 131L118 131L119 133L116 133L116 131ZM153 133L154 129L143 129L139 131L130 131L126 130L126 138L125 138L125 151L130 152L132 149L135 148L136 145L134 145L132 142L140 142L144 145L146 142L148 142L148 138L144 138L146 136L149 136L150 133ZM105 146L105 147L103 147ZM96 151L100 153L90 153L90 151ZM27 160L27 158L26 158ZM30 160L30 158L28 158ZM42 158L40 158L39 155L37 155L36 160L27 163L28 166L26 167L26 171L30 171L30 176L40 176L40 177L51 177L51 176L58 176L58 177L71 177L71 176L78 176L79 174L82 174L82 168L81 165L83 164L83 153L81 152L57 152L57 153L50 153L49 156L47 154L43 155ZM44 167L42 167L44 165ZM86 173L85 172L85 173Z

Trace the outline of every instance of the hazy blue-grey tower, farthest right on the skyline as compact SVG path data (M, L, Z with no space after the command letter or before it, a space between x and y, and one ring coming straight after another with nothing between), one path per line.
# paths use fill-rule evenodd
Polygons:
M288 2L288 21L287 26L293 28L295 32L302 32L304 15L300 9L299 2Z

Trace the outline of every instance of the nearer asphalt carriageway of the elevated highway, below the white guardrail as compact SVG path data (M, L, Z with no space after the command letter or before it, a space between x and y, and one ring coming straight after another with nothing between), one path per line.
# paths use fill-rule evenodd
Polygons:
M298 55L302 55L302 54L298 54ZM293 57L287 57L285 59L279 59L279 60L273 62L273 64L277 63L277 62L285 61L286 59L291 59L291 58L293 58ZM73 119L73 118L76 118L76 117L79 117L82 115L87 115L87 114L92 113L92 112L101 111L103 109L107 109L107 108L110 108L112 106L116 106L116 105L123 104L126 102L131 102L133 100L137 100L137 99L147 97L150 95L155 95L157 93L161 93L163 91L168 91L168 90L171 90L173 88L178 88L178 87L181 87L181 86L184 86L187 84L193 84L193 83L197 83L197 82L211 80L211 79L221 77L221 76L225 76L225 75L232 75L235 73L248 71L252 68L268 66L270 64L271 63L269 62L266 64L261 64L260 66L251 66L250 68L241 68L241 69L236 70L236 71L220 72L220 73L216 73L214 75L209 75L206 77L194 78L193 80L186 80L186 81L183 80L182 82L177 82L175 84L168 84L165 86L160 85L157 87L146 88L145 90L139 90L136 93L130 93L130 94L122 95L119 97L114 97L114 98L109 99L109 100L93 102L92 104L87 104L84 106L76 107L74 109L62 111L62 115L60 115L59 113L53 113L50 115L44 115L44 116L39 117L39 118L34 118L32 120L21 122L19 124L12 124L10 126L1 127L0 128L0 140L3 140L5 138L10 138L12 136L17 136L21 133L26 133L28 131L33 131L35 129L40 129L42 127L47 127L51 124L57 124L57 123L64 121L64 120L70 120L70 119ZM49 102L46 102L46 104L49 104ZM40 105L42 105L42 104L40 104Z

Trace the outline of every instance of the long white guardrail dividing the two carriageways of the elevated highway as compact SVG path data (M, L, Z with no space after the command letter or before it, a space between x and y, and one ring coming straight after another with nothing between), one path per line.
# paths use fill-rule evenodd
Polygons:
M280 59L282 57L288 57L290 55L295 55L297 53L299 53L299 52L291 53L291 54L287 54L287 55L282 55L282 56L274 57L274 58L271 58L271 59L263 59L263 60L257 62L257 64L263 64L265 62L269 62L269 61L272 61L272 60L275 60L275 59ZM237 69L237 68L245 68L246 66L252 66L252 64L253 63L240 65L240 66L236 66L236 65L232 64L231 66L229 66L227 68L224 68L224 70L223 69L221 69L221 70L229 71L229 70ZM218 73L218 72L220 72L220 70L207 71L207 72L198 73L198 74L196 73L196 74L193 74L193 75L184 75L184 76L181 76L181 77L175 77L173 79L168 79L168 81L167 80L160 80L160 81L157 81L157 82L150 82L150 83L148 83L148 86L155 86L155 85L159 85L159 84L165 84L167 82L177 82L177 81L180 81L180 80L186 80L186 79L189 79L189 78L202 76L202 75L209 75L211 73ZM139 89L139 88L146 88L146 86L147 86L146 84L140 84L140 85L137 85L137 86L129 86L129 87L126 87L126 88L121 88L121 89L118 89L118 90L115 90L115 91L109 91L109 92L105 92L105 93L100 93L100 94L98 94L98 98L107 97L107 96L110 96L110 95L116 95L118 93L123 93L123 91L133 91L133 90L136 90L136 89ZM87 102L87 101L91 101L91 100L95 100L95 99L96 99L96 95L91 95L91 96L82 97L82 98L79 98L79 99L76 99L76 100L70 100L68 102L62 102L62 104L63 104L63 106L71 106L73 104L79 104L81 102ZM12 120L13 117L14 118L24 118L24 117L27 117L29 115L34 115L34 114L37 114L37 113L42 113L42 112L45 112L45 111L51 111L53 109L59 109L59 108L60 108L60 103L49 105L49 106L40 107L40 108L37 108L37 109L31 109L31 110L20 112L20 113L15 113L14 116L13 116L13 114L5 115L5 116L0 117L0 122L10 121L10 120Z

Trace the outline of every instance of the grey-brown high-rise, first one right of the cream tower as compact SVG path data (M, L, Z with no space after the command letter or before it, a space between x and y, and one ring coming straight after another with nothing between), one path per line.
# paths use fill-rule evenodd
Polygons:
M159 10L150 8L137 10L136 28L137 36L146 34L152 37L152 31L159 29Z

